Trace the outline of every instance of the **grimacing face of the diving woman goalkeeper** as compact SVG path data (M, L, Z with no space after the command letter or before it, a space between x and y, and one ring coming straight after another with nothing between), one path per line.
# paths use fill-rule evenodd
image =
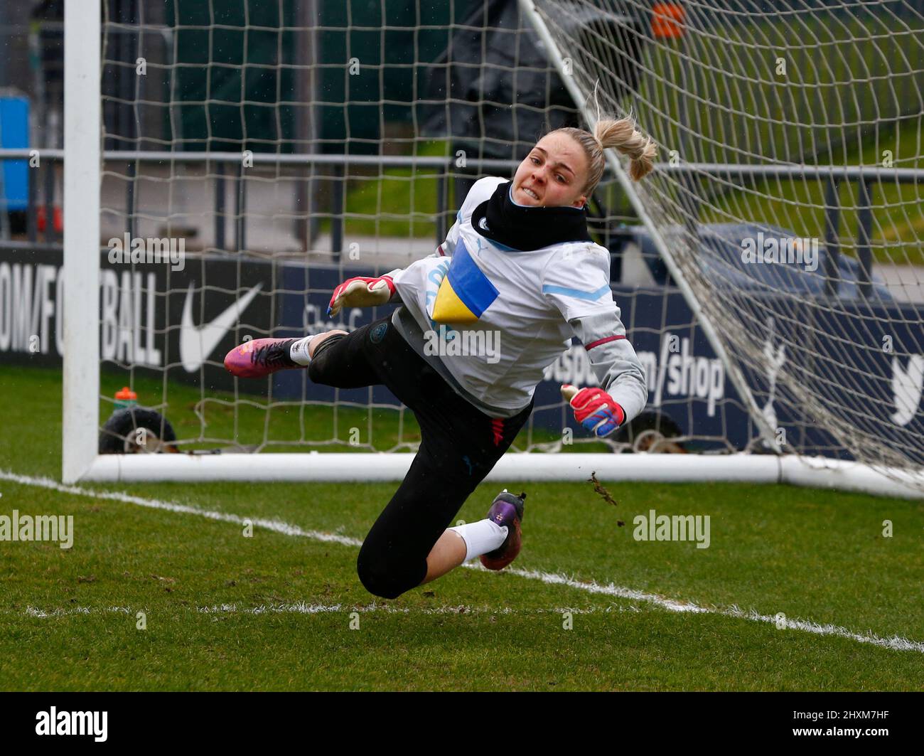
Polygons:
M513 199L533 207L583 207L587 169L587 156L577 141L566 134L547 134L517 168Z

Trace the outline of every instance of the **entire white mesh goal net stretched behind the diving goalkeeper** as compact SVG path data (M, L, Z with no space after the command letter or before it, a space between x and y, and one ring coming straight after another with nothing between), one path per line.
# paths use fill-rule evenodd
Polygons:
M631 186L611 155L590 202L649 406L589 439L558 391L596 383L576 342L514 445L547 454L502 463L587 477L593 453L614 474L722 478L744 456L778 480L786 452L904 481L924 462L919 3L101 10L91 396L101 427L123 386L160 420L108 426L140 454L95 457L86 477L401 477L419 430L385 389L236 380L225 352L381 317L326 317L331 290L432 253L474 180L512 176L597 104L660 149Z

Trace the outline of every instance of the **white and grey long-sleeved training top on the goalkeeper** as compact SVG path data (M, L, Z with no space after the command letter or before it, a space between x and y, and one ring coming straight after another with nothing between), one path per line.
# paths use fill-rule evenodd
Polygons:
M436 252L389 273L404 304L392 323L458 393L491 417L512 417L526 408L545 368L577 335L603 390L624 409L626 422L632 420L645 407L648 388L610 289L609 251L590 241L521 251L482 237L471 214L505 181L476 182ZM456 280L459 270L466 281L478 278L476 299L490 301L475 323L432 319L437 292L454 263Z

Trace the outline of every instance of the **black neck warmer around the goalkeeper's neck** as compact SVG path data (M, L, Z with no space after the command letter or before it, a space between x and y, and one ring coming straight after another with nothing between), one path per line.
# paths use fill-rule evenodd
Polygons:
M565 241L593 241L582 207L529 207L510 199L513 183L500 184L471 213L471 226L492 241L531 251Z

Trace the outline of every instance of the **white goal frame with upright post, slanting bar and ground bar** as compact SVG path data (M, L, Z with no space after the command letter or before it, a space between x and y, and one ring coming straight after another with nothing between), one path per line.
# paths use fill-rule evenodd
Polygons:
M562 68L551 34L545 29L532 0L518 0L521 9L553 52ZM413 454L319 452L267 453L248 457L241 465L236 454L224 455L99 455L100 330L99 301L86 291L99 289L100 191L102 179L102 0L83 0L65 5L65 173L64 173L64 391L62 424L62 480L65 483L140 481L296 481L369 482L399 481L407 473ZM577 86L563 76L576 103L582 101ZM88 105L92 104L92 105ZM583 105L583 115L593 114ZM596 473L607 481L660 482L788 482L798 485L891 494L909 498L924 496L919 476L905 470L879 470L857 462L826 457L798 457L779 453L772 430L766 425L736 365L728 359L711 323L663 238L651 222L631 182L608 151L607 160L626 189L639 218L656 240L664 262L677 280L685 299L698 315L704 333L723 361L740 395L745 397L754 420L776 452L769 455L722 456L636 454L507 454L487 480L493 481L586 481ZM359 464L358 464L359 463ZM888 473L888 474L886 474Z

